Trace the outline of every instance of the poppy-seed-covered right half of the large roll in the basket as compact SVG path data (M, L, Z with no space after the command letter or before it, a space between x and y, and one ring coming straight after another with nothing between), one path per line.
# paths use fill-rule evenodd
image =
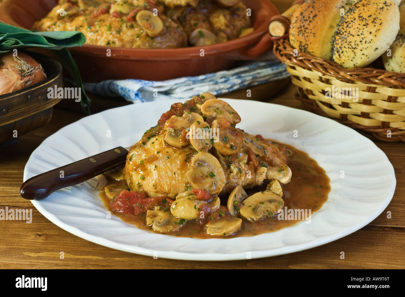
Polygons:
M399 31L399 9L393 0L358 0L342 17L335 34L333 61L364 67L381 56Z

